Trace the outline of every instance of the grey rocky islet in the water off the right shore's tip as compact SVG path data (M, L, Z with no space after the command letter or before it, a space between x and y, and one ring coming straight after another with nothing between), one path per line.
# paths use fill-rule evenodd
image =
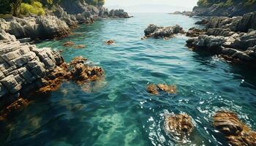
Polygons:
M184 34L184 30L181 26L178 25L162 27L150 24L148 28L145 29L144 33L146 37L173 37L174 34Z

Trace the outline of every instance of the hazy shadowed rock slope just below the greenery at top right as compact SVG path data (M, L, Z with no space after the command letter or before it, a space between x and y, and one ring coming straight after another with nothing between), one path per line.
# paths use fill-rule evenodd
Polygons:
M225 1L218 1L219 4L211 4L208 6L196 6L193 8L193 15L197 16L239 16L248 12L254 12L256 3L245 4L246 1L233 0L233 4L222 4ZM222 3L221 3L222 2Z

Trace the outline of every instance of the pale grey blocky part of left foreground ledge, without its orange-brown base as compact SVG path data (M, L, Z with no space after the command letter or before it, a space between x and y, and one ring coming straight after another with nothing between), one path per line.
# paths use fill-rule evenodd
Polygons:
M22 44L14 36L0 34L0 96L1 106L18 96L42 86L41 78L63 63L59 53L50 48L37 49Z

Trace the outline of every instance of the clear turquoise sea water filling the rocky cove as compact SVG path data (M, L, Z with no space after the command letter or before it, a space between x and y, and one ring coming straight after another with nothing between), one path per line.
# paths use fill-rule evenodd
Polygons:
M49 97L37 98L14 118L0 124L0 145L227 145L212 127L217 110L232 110L256 129L255 71L231 66L206 53L184 47L187 37L145 39L150 23L179 24L186 30L197 18L166 14L134 14L83 25L58 41L37 44L77 55L105 69L105 80L88 92L64 82ZM105 45L114 39L116 44ZM62 47L66 41L86 48ZM152 96L150 83L175 84L176 95ZM163 130L164 115L186 112L195 130L181 144Z

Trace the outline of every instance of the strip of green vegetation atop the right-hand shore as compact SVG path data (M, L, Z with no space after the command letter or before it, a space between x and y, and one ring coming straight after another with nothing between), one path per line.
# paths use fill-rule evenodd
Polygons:
M211 7L212 5L218 5L219 7L230 7L239 2L243 2L244 6L252 6L256 4L256 0L199 0L197 5L199 7Z

